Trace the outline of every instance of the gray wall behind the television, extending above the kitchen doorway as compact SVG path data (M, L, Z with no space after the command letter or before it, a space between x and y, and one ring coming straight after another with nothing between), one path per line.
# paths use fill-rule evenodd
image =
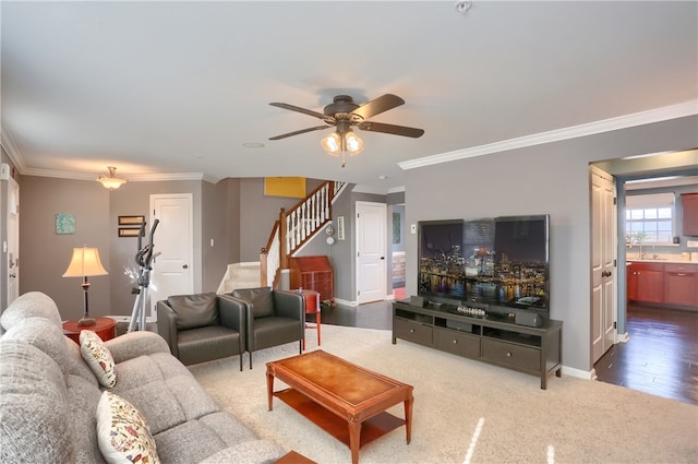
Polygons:
M406 172L406 216L551 215L551 317L564 322L563 364L590 371L589 163L698 146L698 117L472 157ZM407 294L417 292L417 236L407 234ZM412 257L412 259L410 259Z

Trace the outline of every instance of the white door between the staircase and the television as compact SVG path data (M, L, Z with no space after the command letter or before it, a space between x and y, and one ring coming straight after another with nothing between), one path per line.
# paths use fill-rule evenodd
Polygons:
M357 302L385 299L387 206L357 202Z

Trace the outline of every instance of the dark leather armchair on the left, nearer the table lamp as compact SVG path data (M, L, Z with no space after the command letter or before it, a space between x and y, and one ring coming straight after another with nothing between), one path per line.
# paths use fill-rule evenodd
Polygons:
M157 302L157 331L183 365L228 356L245 348L245 305L215 293L174 295Z

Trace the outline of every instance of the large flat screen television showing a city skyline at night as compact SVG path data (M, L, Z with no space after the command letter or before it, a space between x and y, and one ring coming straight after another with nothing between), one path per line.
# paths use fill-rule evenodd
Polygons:
M550 311L546 214L419 223L418 295L488 313Z

